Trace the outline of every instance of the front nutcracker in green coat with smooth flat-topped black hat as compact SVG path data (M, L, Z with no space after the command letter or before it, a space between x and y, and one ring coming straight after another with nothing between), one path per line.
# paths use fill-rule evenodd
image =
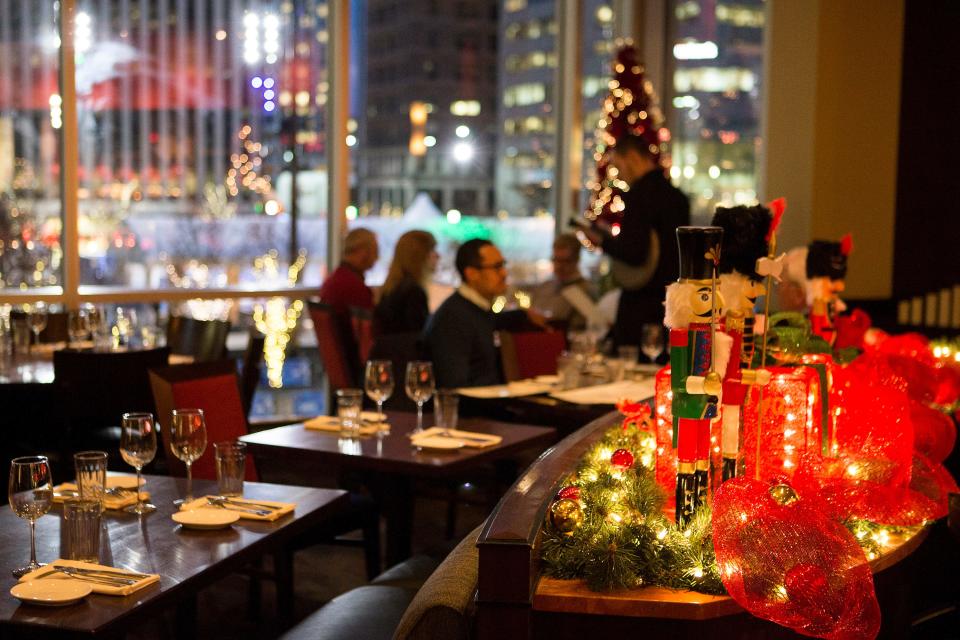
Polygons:
M686 526L710 486L710 422L719 414L721 371L731 340L717 330L720 227L679 227L680 279L667 287L673 446L677 450L677 525Z

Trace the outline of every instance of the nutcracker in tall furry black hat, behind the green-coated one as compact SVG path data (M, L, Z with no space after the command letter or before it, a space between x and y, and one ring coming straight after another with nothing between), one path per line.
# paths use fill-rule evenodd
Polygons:
M764 331L764 316L754 314L757 298L764 294L764 278L779 280L783 256L770 259L768 242L780 224L786 204L783 198L754 207L718 207L713 224L723 229L720 258L720 295L724 300L724 333L733 340L731 357L723 374L723 404L720 408L722 478L743 475L740 447L743 441L743 403L750 385L770 381L766 369L751 369L754 337ZM772 213L771 213L772 210Z

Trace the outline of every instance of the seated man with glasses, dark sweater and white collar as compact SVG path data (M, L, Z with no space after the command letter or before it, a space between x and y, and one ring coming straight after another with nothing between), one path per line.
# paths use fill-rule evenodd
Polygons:
M527 321L545 326L535 311L494 313L491 304L507 290L506 262L489 240L473 239L457 251L462 284L424 329L424 346L433 361L438 387L502 384L494 332L523 328Z

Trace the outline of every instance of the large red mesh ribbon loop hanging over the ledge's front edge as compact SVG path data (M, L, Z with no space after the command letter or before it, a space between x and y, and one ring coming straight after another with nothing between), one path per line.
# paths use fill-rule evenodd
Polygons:
M714 549L727 592L751 614L798 633L874 638L880 607L863 550L815 494L793 502L783 495L774 500L770 485L748 478L717 491ZM796 494L787 487L785 495Z

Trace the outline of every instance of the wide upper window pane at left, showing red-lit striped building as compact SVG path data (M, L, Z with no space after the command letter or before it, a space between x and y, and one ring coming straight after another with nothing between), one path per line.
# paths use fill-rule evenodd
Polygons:
M78 2L82 284L269 287L285 278L264 281L257 258L300 250L300 281L319 282L326 9Z

